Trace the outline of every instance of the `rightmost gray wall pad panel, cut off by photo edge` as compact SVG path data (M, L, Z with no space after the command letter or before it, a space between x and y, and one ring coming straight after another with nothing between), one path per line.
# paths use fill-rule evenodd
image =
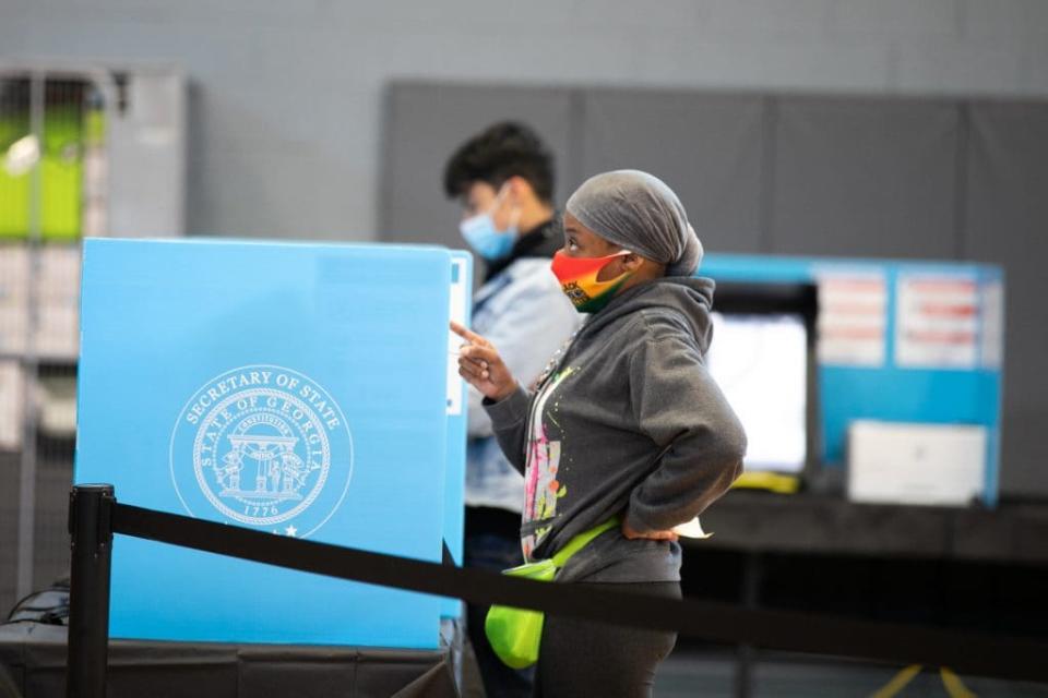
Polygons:
M1048 104L970 108L965 249L1007 274L1001 492L1048 495Z

